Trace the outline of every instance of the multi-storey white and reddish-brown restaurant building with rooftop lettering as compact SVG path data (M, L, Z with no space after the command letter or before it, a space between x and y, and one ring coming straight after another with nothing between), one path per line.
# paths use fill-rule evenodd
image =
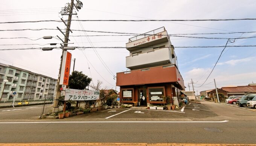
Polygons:
M163 96L181 101L185 89L178 70L177 57L165 27L135 36L126 43L130 55L126 68L116 74L120 86L120 102L134 106L163 104Z

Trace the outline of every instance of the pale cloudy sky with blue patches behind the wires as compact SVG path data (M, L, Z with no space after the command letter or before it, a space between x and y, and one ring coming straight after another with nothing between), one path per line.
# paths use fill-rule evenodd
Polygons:
M12 0L1 1L0 22L36 21L67 19L61 15L61 7L71 0ZM142 19L239 19L255 18L255 0L81 0L83 7L73 20L142 20ZM23 30L59 27L65 29L63 22L35 22L0 24L0 49L52 47L49 43L58 43L57 35L64 40L59 30ZM256 31L256 20L239 21L72 21L69 46L79 47L125 47L133 36L90 36L116 35L116 33L96 33L88 31L108 31L142 34L165 27L169 35L190 33L232 33L233 34L200 34L186 35L192 37L230 38L227 45L256 45L256 38L232 39L256 36L256 33L234 33ZM4 31L3 31L4 30ZM53 39L42 39L53 36ZM181 36L181 35L180 35ZM184 35L182 35L184 36ZM4 39L13 37L27 37ZM174 48L177 46L225 46L227 39L198 39L188 37L170 37ZM91 43L89 43L91 42ZM34 44L34 45L32 45ZM256 83L256 47L226 47L213 69L224 47L220 48L175 48L178 68L184 79L186 91L192 91L191 79L196 94L200 91L224 86L242 86ZM117 89L114 75L126 71L125 57L129 51L125 48L87 48L70 51L72 59L76 58L75 70L82 71L88 77L103 82L102 88ZM2 50L0 63L9 64L58 78L61 49L52 51ZM101 61L100 61L101 60ZM73 69L73 61L71 69ZM105 64L105 67L104 65ZM108 70L109 69L109 70ZM206 80L207 76L209 78ZM205 82L206 81L206 82ZM204 83L205 82L205 83ZM201 86L204 83L203 86Z

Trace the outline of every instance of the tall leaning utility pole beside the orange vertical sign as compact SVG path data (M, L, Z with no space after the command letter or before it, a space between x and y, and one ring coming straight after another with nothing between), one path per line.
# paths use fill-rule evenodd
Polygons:
M64 40L64 44L63 44L64 47L67 47L68 42L69 42L69 31L70 31L70 24L71 24L72 12L73 12L73 4L74 4L74 0L71 0L70 9L69 9L69 18L67 20L67 28L66 28L66 34L65 34L66 37L65 37L65 40ZM62 86L59 85L59 82L60 82L60 77L61 77L63 54L64 54L64 50L62 48L61 64L59 66L59 75L58 75L58 81L57 81L56 91L55 91L55 99L53 101L53 112L58 112L59 111L58 101L59 101L59 97L61 96L60 88L62 88Z

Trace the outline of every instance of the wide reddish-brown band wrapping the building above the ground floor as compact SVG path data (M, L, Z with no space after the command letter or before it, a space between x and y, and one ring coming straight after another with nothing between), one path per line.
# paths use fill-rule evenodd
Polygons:
M117 86L152 83L176 83L181 89L185 89L183 78L175 65L151 67L116 74Z

